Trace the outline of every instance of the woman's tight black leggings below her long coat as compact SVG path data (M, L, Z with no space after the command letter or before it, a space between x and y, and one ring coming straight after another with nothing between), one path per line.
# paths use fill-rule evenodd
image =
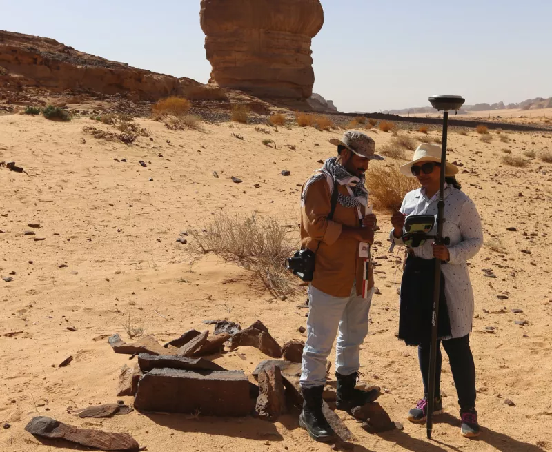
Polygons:
M435 367L435 396L441 395L441 341L437 342ZM462 411L475 408L475 364L470 350L470 335L442 341L444 351L449 355L454 384L458 393L458 404ZM429 342L418 346L418 360L424 380L424 393L428 395Z

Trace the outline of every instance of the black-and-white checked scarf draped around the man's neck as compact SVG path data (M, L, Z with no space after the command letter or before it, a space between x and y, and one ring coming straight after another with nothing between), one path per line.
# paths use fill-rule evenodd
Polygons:
M302 202L304 202L306 192L311 184L331 176L332 179L337 181L337 184L351 187L353 196L343 195L339 193L337 195L337 202L344 207L357 207L359 205L368 205L368 190L364 186L365 177L356 177L349 173L345 167L337 161L337 157L331 157L324 162L324 166L318 170L311 179L305 184L303 194L301 196ZM333 184L332 184L333 186Z

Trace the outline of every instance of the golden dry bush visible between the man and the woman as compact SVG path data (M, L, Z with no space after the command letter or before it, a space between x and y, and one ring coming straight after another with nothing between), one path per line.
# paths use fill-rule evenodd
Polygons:
M377 210L397 212L404 195L420 187L415 177L406 177L398 166L374 165L368 168L366 187L370 190L373 206Z

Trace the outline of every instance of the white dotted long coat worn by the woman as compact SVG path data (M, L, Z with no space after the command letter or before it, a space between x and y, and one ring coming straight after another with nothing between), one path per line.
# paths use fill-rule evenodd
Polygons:
M437 233L437 193L431 199L425 195L424 188L407 193L400 211L408 215L434 215L435 226L431 235ZM444 237L450 237L447 246L451 259L441 266L445 279L446 304L449 307L452 337L463 337L471 332L473 323L474 299L468 265L466 261L477 254L483 245L481 219L473 201L461 190L446 185L444 190ZM404 245L391 231L391 242ZM422 246L413 248L414 255L422 259L433 259L433 240L427 240Z

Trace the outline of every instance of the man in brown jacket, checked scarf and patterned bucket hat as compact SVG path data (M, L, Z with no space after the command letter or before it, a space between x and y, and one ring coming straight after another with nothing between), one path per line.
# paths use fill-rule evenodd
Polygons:
M348 411L379 395L360 391L355 384L374 285L369 247L376 217L371 210L366 215L364 177L371 160L384 158L375 154L371 137L355 130L330 143L337 146L337 157L326 160L304 185L301 218L302 248L312 250L316 257L308 291L310 311L300 379L304 404L299 424L322 442L335 437L322 414L322 392L326 360L338 331L337 409Z

